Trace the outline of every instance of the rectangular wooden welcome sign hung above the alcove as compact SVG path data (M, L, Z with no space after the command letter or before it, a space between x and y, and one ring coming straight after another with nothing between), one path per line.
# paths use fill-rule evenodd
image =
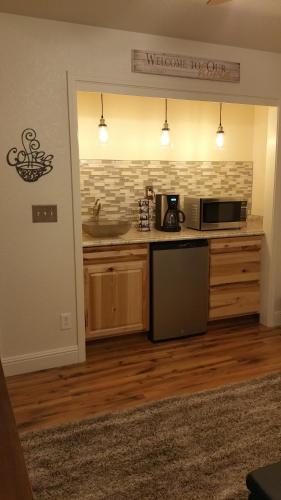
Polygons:
M239 63L147 50L132 50L132 71L220 82L240 82Z

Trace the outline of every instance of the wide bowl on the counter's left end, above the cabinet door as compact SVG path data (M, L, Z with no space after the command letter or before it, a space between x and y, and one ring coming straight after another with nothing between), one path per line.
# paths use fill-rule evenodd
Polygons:
M82 224L83 231L96 238L110 238L126 234L131 227L131 221L106 220L88 221Z

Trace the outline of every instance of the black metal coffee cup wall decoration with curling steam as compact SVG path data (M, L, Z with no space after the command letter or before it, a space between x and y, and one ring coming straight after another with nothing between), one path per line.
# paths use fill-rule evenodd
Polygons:
M21 134L23 149L13 147L7 154L7 162L16 167L17 173L26 182L38 181L42 175L53 170L54 155L48 155L40 150L40 142L33 128L26 128Z

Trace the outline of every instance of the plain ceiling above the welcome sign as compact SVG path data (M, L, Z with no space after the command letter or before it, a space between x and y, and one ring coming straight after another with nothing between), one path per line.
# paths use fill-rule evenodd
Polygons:
M281 52L281 0L0 0L0 12Z

